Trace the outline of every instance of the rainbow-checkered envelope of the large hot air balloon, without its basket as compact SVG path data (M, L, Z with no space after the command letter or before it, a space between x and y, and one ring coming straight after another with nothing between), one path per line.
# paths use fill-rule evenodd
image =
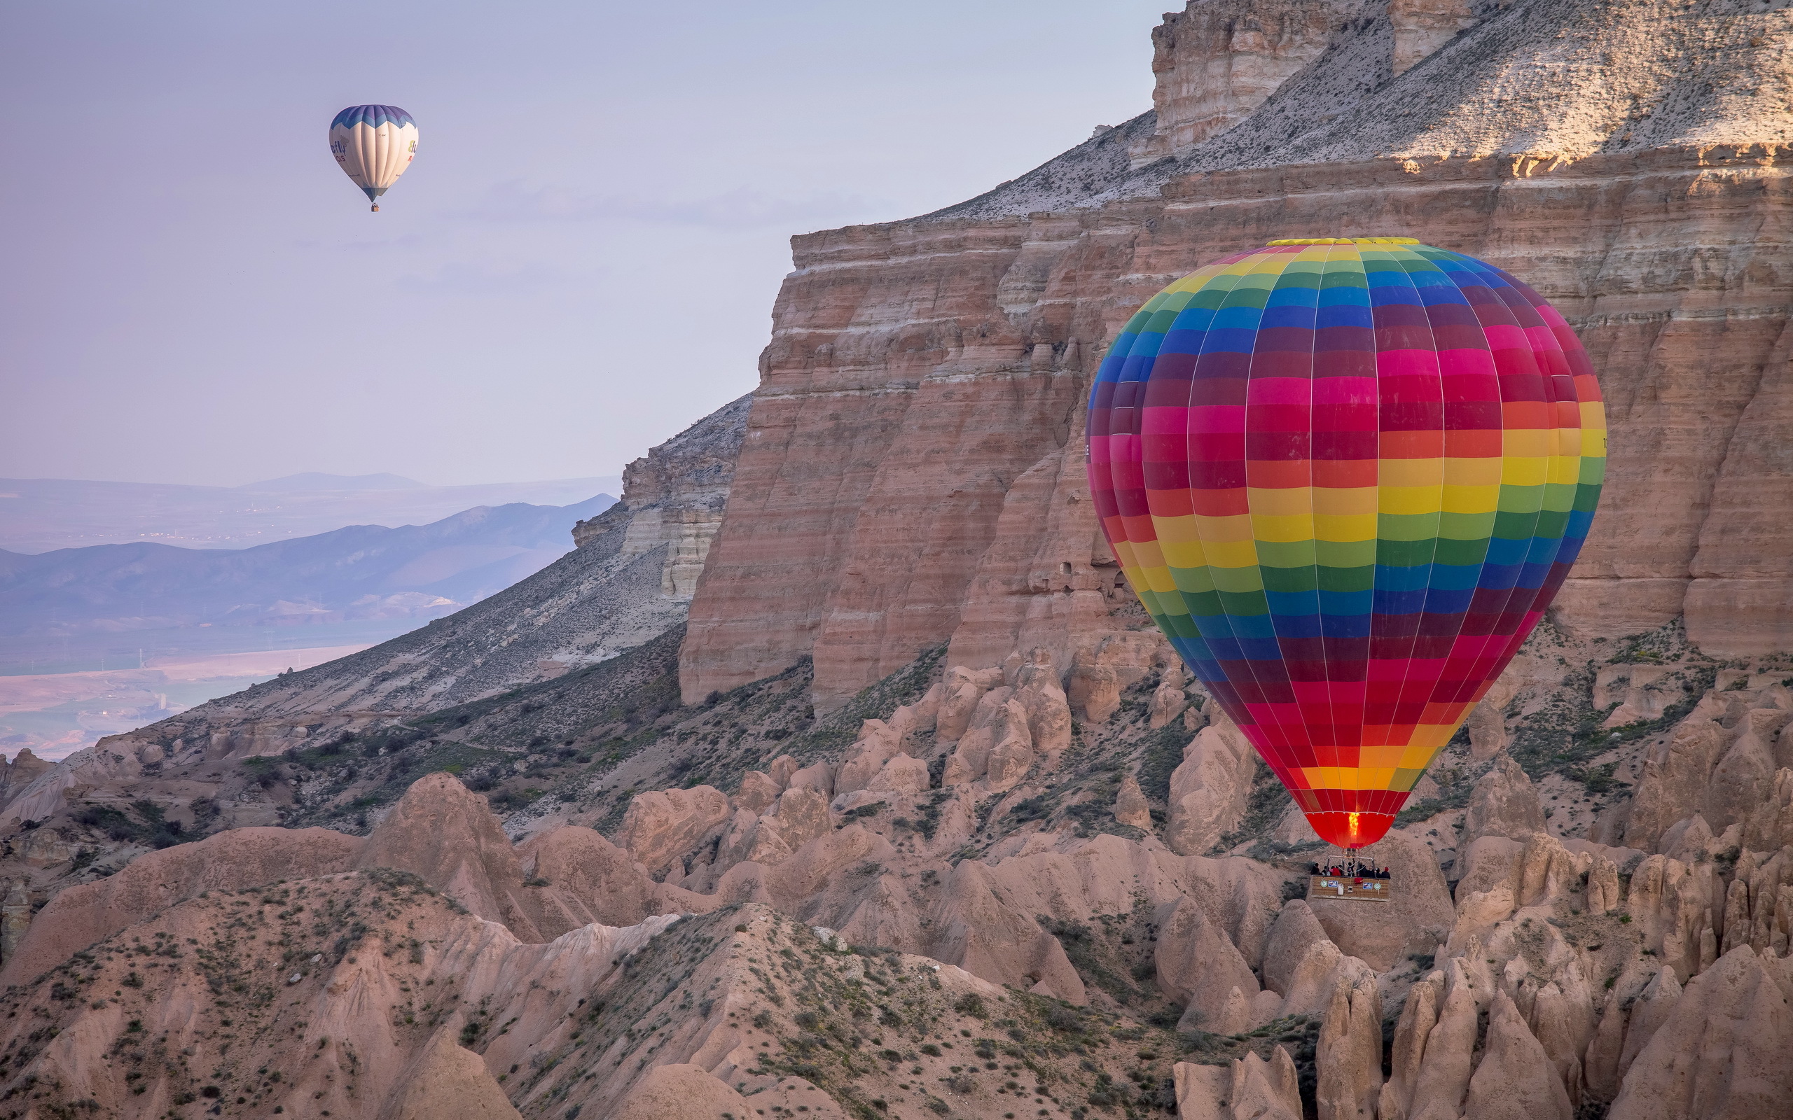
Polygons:
M1373 844L1549 606L1605 410L1537 292L1408 237L1153 296L1090 394L1128 582L1321 839Z

